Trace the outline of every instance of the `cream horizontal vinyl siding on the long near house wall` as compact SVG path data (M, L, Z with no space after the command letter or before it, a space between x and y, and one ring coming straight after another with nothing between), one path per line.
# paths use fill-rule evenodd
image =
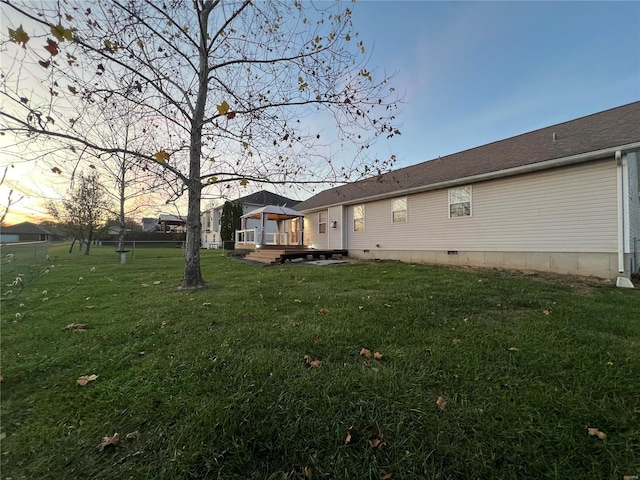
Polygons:
M411 222L389 229L389 201L366 204L349 249L615 252L616 165L592 162L473 184L473 216L451 221L448 189L411 195Z

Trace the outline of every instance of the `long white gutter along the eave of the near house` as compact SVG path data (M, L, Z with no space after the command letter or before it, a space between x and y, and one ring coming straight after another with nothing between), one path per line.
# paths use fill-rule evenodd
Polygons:
M444 182L433 183L430 185L423 185L420 187L394 190L393 192L356 198L353 200L349 200L347 202L337 202L329 205L320 205L318 207L301 210L301 212L313 212L313 211L324 210L327 208L336 207L340 205L355 205L363 202L372 202L375 200L384 200L386 198L399 197L399 196L409 195L414 193L428 192L431 190L440 190L442 188L450 188L458 185L464 185L467 183L484 182L486 180L494 180L496 178L511 177L514 175L522 175L524 173L537 172L540 170L548 170L551 168L565 167L568 165L576 165L579 163L586 163L586 162L590 162L593 160L600 160L607 157L614 157L616 155L616 152L624 153L625 151L636 150L636 149L640 149L640 142L629 143L627 145L620 145L617 147L604 148L602 150L594 150L592 152L580 153L578 155L570 155L568 157L555 158L553 160L547 160L544 162L521 165L519 167L508 168L506 170L498 170L495 172L481 173L478 175L471 175L468 177L456 178L454 180L447 180Z

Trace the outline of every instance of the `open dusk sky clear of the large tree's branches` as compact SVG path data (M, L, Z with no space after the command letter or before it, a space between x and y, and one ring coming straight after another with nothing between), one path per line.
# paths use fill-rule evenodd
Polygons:
M376 145L380 156L397 156L397 167L640 99L638 1L369 0L351 8L369 70L395 72L404 97L402 135ZM14 223L44 211L34 194L41 189L16 174L10 185L31 198L12 207Z

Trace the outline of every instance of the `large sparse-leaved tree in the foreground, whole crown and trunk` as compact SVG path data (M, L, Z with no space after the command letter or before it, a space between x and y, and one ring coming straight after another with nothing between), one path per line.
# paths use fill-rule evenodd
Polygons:
M0 111L0 129L126 155L174 179L173 196L188 195L184 287L205 284L200 201L208 185L344 182L395 160L369 156L375 139L399 133L397 98L388 78L376 81L367 69L351 6L2 3L42 39L30 39L18 21L9 28L5 44L13 44L20 68L3 80L8 107ZM41 77L47 90L25 88L22 72ZM146 134L143 145L100 141L91 112L114 102L148 121L137 132ZM353 153L336 161L328 145Z

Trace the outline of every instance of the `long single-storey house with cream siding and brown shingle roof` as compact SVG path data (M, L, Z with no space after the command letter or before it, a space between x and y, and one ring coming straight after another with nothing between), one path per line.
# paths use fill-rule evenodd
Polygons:
M640 102L322 191L305 243L350 257L629 277Z

